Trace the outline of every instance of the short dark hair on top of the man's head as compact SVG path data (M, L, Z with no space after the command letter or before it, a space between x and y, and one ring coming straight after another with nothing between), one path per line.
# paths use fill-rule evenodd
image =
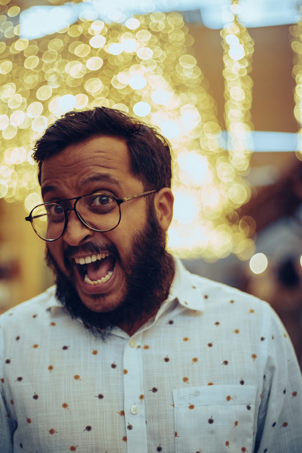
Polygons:
M126 113L107 107L70 111L50 125L34 146L41 184L43 161L73 143L106 135L125 140L129 149L131 174L145 190L171 187L171 149L158 131ZM71 156L72 158L72 156Z

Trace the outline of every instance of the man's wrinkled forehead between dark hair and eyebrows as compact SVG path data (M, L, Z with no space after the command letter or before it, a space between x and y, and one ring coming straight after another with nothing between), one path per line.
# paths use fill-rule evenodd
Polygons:
M93 182L114 182L127 188L131 175L129 150L124 140L97 136L69 145L46 159L41 168L42 194L53 188L81 191Z

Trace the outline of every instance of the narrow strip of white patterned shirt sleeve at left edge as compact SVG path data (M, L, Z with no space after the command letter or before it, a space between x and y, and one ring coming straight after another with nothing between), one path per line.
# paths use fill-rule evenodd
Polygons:
M5 400L4 342L0 328L0 451L13 453L14 427Z

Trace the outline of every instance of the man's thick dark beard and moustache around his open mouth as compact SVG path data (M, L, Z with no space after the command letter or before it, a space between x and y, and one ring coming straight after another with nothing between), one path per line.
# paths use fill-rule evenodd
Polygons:
M70 269L70 256L78 251L100 253L104 245L86 244L82 247L67 246L64 251L65 267ZM111 335L112 329L126 323L133 328L134 323L141 322L157 313L162 302L167 299L174 275L172 256L166 251L166 235L161 229L153 204L150 203L147 225L135 233L131 241L131 250L122 261L114 244L105 247L110 255L118 261L125 274L126 289L118 306L109 312L95 312L81 301L72 283L58 267L48 248L46 263L55 275L56 298L72 319L80 319L86 328L96 337L103 340ZM104 296L94 294L92 297L101 300Z

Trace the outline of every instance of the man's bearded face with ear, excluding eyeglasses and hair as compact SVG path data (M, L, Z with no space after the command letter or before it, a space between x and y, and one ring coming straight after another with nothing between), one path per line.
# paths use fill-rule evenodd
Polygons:
M44 202L100 191L116 198L144 192L143 183L130 173L125 142L106 136L70 145L46 159L41 188ZM69 210L63 236L47 242L58 299L73 318L81 318L94 333L101 330L103 337L113 325L148 319L168 295L173 260L165 251L165 231L173 196L167 188L156 196L157 210L153 202L147 207L145 197L122 203L120 224L105 233L91 231ZM67 203L73 207L73 201ZM84 259L86 264L79 263Z

